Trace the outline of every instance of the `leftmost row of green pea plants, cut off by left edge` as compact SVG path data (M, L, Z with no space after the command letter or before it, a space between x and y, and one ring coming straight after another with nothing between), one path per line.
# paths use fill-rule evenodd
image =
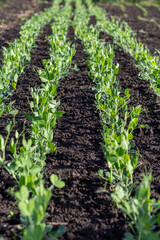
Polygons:
M3 47L3 62L0 68L0 116L4 113L15 114L15 110L6 106L3 102L13 89L16 89L19 76L24 72L25 66L30 61L30 53L35 47L35 40L41 29L49 23L59 10L60 1L54 1L51 8L46 9L40 14L35 14L26 21L20 31L20 39L9 43L10 47ZM12 86L12 87L11 87Z

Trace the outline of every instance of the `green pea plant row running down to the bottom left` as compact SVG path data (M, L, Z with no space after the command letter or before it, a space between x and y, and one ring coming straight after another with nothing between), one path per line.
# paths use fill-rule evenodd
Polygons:
M15 132L15 139L11 139L9 148L12 153L12 161L5 159L4 142L7 144L7 138L15 124L9 122L6 126L8 132L4 140L0 136L0 149L3 152L1 164L13 176L17 182L17 191L13 193L16 197L18 208L21 213L22 239L41 240L47 236L47 239L57 239L61 236L65 227L61 226L57 231L52 231L52 226L44 222L47 217L46 209L52 195L54 187L62 188L65 183L52 174L50 176L51 186L46 189L43 180L43 167L46 165L46 155L56 150L53 143L53 130L57 118L64 112L57 111L59 102L55 100L56 89L59 79L66 76L71 67L72 56L75 48L70 48L70 42L67 41L67 30L70 24L72 8L70 1L54 17L52 24L53 35L50 36L50 59L44 60L44 71L39 71L42 80L41 87L31 88L33 101L30 102L32 115L26 114L31 121L30 138L26 140L23 132ZM56 33L56 34L55 34ZM17 143L20 136L23 136L22 147L17 150Z

